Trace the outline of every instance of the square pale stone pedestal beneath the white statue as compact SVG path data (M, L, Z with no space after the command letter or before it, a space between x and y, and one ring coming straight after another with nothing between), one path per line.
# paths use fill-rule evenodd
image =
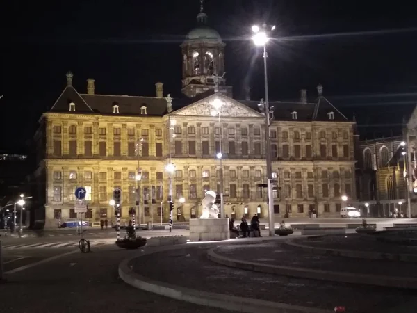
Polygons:
M190 241L230 239L229 218L191 218Z

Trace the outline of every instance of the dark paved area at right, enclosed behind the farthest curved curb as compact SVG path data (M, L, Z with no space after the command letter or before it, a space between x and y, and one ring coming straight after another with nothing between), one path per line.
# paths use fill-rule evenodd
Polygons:
M347 234L338 236L302 237L295 240L306 246L341 250L375 251L382 253L411 253L417 255L416 246L400 246L377 241L373 236Z

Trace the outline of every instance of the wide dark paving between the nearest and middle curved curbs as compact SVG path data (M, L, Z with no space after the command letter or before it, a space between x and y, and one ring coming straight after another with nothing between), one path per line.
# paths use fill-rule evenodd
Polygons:
M254 245L250 245L250 249ZM224 247L234 250L236 246ZM249 247L248 247L249 249ZM411 291L288 278L221 266L206 258L207 246L157 252L134 259L133 271L152 280L203 291L256 298L291 305L347 312L379 312L412 298ZM270 254L275 253L273 250ZM387 311L388 312L388 311ZM397 311L395 311L397 312Z

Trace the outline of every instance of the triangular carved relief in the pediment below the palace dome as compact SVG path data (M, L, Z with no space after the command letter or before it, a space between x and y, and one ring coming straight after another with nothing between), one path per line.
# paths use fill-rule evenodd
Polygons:
M193 115L193 116L212 116L211 112L214 110L213 105L210 102L203 102L201 104L191 105L181 111L175 113L175 115ZM251 109L242 108L231 102L224 102L222 104L221 116L229 116L234 118L260 118L261 116L252 111Z

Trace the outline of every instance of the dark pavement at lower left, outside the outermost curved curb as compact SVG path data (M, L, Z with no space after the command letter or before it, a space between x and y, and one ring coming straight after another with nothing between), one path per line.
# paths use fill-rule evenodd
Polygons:
M145 248L148 249L148 248ZM123 259L141 250L111 246L67 255L8 275L0 283L0 312L7 313L227 313L130 287L117 274Z

